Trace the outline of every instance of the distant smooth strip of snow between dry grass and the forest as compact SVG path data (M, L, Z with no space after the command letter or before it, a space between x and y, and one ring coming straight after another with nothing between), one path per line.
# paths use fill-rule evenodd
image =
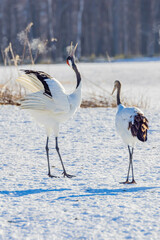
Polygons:
M122 62L122 63L77 63L83 81L83 99L91 96L105 96L113 101L111 96L115 80L122 83L122 98L132 105L159 109L160 62ZM34 69L44 71L58 79L67 90L72 92L76 86L74 71L67 64L29 65L19 69ZM0 83L13 85L17 74L15 67L0 67ZM14 86L13 86L14 88Z

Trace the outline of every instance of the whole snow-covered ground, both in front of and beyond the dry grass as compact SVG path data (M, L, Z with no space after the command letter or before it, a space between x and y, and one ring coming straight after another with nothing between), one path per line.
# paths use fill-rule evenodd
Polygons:
M108 96L114 80L119 79L128 99L142 93L144 98L148 96L148 108L144 109L149 119L148 141L139 143L134 153L137 184L119 184L126 179L128 151L115 132L116 109L79 109L73 119L61 126L59 147L63 161L67 172L76 177L62 177L52 136L52 173L60 178L50 179L44 129L18 107L0 106L0 240L157 240L160 63L78 66L84 79L84 94L92 88L87 79L107 86ZM50 66L37 68L57 79L63 79L62 72L66 71L66 76L74 81L74 73L65 65L55 65L52 70ZM67 82L64 84L67 86Z

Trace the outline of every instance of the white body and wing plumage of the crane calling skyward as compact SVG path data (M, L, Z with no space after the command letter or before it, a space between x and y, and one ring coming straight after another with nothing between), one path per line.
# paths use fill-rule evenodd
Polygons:
M59 124L73 116L80 106L81 83L72 94L67 95L56 79L45 79L51 97L44 94L43 84L32 74L23 75L18 81L32 92L21 102L21 108L28 110L37 122L44 125L47 136L52 131L58 136Z

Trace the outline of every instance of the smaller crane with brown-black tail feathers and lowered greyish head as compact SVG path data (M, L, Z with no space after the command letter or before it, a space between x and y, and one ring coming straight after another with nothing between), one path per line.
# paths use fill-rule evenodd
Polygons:
M128 145L129 151L129 168L127 179L121 183L136 183L133 174L133 150L135 143L138 141L147 141L148 120L143 112L136 107L125 107L120 101L121 83L116 80L112 94L117 89L117 114L116 114L116 130L121 136L124 143ZM129 182L130 168L132 168L132 181Z

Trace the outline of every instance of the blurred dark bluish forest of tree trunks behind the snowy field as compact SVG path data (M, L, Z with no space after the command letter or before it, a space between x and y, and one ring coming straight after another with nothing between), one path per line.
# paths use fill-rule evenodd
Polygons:
M11 42L21 55L30 22L33 51L48 40L46 59L64 59L71 41L79 58L159 54L160 0L0 0L1 52Z

